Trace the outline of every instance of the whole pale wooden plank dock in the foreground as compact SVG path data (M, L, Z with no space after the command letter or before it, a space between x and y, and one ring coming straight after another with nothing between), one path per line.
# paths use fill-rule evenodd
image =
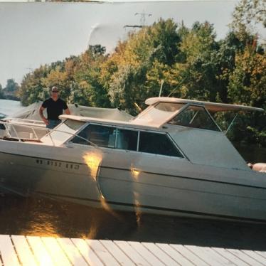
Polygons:
M266 241L266 240L265 240ZM266 265L266 251L0 235L0 265Z

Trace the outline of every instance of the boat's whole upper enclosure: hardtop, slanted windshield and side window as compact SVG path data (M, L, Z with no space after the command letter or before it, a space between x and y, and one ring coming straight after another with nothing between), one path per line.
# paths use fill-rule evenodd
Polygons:
M149 107L132 120L132 124L161 127L166 123L221 131L210 113L226 111L264 111L244 105L228 105L171 97L154 97L145 102Z

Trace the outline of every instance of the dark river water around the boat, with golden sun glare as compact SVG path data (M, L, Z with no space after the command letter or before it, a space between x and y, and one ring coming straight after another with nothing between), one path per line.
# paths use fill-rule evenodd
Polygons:
M19 102L0 100L0 112L11 115ZM266 150L238 146L246 160L265 159ZM251 156L250 151L255 152ZM0 169L1 177L1 169ZM135 240L224 248L266 250L266 225L110 213L50 198L0 194L0 234L68 238Z

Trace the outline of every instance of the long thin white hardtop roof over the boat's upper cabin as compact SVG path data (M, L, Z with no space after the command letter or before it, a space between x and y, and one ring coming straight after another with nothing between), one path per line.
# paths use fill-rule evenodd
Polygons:
M153 97L149 98L145 101L147 105L154 105L156 102L176 102L181 104L195 104L195 105L203 105L210 112L223 112L223 111L260 111L263 112L262 108L250 107L245 105L228 105L225 103L217 103L217 102L203 102L198 100L186 100L174 97Z

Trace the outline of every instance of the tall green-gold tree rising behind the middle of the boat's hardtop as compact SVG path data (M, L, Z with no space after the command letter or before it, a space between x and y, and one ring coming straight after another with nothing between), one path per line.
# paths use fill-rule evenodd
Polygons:
M208 22L193 24L189 31L183 31L179 60L173 66L179 74L177 97L198 100L216 100L218 65L216 53L219 46L215 40L213 25Z

